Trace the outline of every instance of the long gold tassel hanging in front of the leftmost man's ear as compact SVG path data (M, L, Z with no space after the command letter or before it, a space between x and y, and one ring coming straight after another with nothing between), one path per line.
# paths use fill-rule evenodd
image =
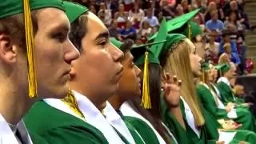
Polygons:
M26 33L26 55L28 62L28 82L29 82L29 97L35 98L38 96L38 86L34 61L34 33L30 12L30 0L23 0L24 5L24 23Z

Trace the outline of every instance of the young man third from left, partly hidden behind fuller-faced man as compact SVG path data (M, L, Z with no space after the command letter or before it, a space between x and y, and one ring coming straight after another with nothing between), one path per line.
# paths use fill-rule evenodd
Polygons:
M106 119L116 130L118 130L122 137L128 139L130 134L132 134L134 142L131 142L130 140L130 143L139 144L158 142L157 136L150 126L146 125L146 122L141 122L140 124L140 131L143 130L142 134L140 131L136 130L136 127L130 124L129 120L132 118L122 115L122 112L120 111L120 107L124 102L133 98L138 98L141 94L140 76L142 71L134 64L134 56L131 54L131 51L138 52L139 47L134 46L134 42L130 39L127 39L124 42L119 42L112 38L111 42L124 53L124 57L121 60L122 66L124 67L124 73L118 83L118 92L109 99L109 102L106 102L106 107L104 109ZM130 134L129 131L127 132L128 129L130 130ZM147 136L144 138L145 135L149 134L150 137Z

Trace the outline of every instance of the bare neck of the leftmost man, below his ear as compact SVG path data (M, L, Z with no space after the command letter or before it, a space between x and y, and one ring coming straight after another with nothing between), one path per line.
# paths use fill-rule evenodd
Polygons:
M27 90L14 84L10 78L1 78L0 114L6 122L17 125L35 100L28 97Z

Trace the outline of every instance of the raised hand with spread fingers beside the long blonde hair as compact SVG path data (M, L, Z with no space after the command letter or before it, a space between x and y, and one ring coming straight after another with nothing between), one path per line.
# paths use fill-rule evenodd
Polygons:
M180 100L180 86L182 85L182 81L177 79L177 76L170 78L170 74L164 74L164 98L166 103L170 107L178 107Z

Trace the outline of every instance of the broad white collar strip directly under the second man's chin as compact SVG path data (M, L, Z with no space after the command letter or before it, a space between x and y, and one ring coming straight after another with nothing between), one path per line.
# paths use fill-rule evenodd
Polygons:
M74 97L77 99L79 110L86 117L86 122L100 130L109 143L123 143L114 128L106 121L100 110L90 102L89 98L74 90L73 92Z

